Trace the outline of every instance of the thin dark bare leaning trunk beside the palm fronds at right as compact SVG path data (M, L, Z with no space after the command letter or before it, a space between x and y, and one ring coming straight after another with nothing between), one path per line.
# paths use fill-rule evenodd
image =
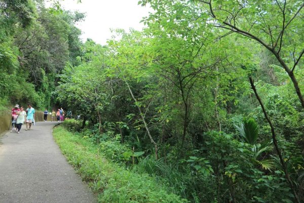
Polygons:
M286 163L285 163L285 161L284 161L284 159L283 159L281 150L280 150L280 148L279 148L279 146L278 146L278 141L277 141L277 137L276 137L276 133L275 133L275 128L274 128L274 126L273 126L273 124L272 124L270 118L268 117L268 114L267 114L267 112L266 112L266 110L265 110L265 108L264 108L264 105L263 105L263 103L262 103L262 100L260 99L260 97L259 97L259 95L258 95L258 93L257 93L257 91L256 91L256 89L255 89L254 82L253 82L253 80L252 80L251 77L249 77L249 81L250 81L250 84L251 84L251 88L252 88L253 91L254 91L255 97L257 98L257 100L258 100L258 102L259 102L259 104L260 104L260 106L261 106L261 108L262 108L262 111L263 111L263 113L264 113L264 117L265 117L265 119L267 120L267 122L269 123L269 125L270 125L270 127L271 127L271 133L272 133L273 143L274 143L274 145L275 145L275 149L276 149L276 151L277 151L277 154L279 155L279 159L280 159L280 162L281 162L282 167L283 167L283 171L284 171L284 174L285 174L285 178L286 178L286 180L287 180L287 182L288 182L288 184L289 184L289 187L290 187L290 189L291 189L291 191L292 191L292 193L293 193L293 195L294 195L295 201L296 201L297 203L299 203L299 202L300 202L300 201L299 201L299 198L298 198L298 196L297 196L297 194L296 194L296 192L295 192L293 183L292 183L292 181L291 181L291 179L290 179L290 176L289 176L289 174L288 174L288 171L287 171L287 165L286 165Z

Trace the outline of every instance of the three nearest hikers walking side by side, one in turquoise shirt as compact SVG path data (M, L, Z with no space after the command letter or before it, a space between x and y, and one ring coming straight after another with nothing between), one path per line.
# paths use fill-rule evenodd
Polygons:
M34 122L35 109L31 107L30 104L27 105L27 109L24 111L24 108L19 105L15 105L12 109L12 130L20 133L20 129L24 121L26 122L26 129L30 130L32 122Z

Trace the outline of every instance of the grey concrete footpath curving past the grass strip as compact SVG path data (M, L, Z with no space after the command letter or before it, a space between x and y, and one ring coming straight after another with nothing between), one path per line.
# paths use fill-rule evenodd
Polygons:
M0 138L0 202L97 202L52 137L57 122Z

